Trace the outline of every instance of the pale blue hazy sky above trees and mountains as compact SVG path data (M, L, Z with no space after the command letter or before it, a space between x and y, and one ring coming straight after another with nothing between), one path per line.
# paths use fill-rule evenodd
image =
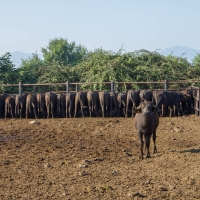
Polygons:
M89 50L200 50L200 0L0 0L0 55L63 37Z

